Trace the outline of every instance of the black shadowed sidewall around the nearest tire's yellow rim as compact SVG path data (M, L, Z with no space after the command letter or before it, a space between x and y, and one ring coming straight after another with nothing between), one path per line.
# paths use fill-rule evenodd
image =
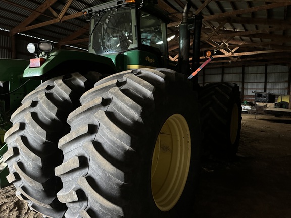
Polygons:
M183 93L181 93L183 94ZM181 100L181 98L184 100ZM188 101L185 101L188 99ZM198 182L199 152L200 152L200 125L197 108L197 95L179 94L171 96L160 96L156 99L156 110L146 119L147 129L150 131L144 135L138 145L138 167L136 168L136 178L133 182L133 197L137 199L132 202L131 210L137 214L136 217L187 217L193 207L194 193ZM173 114L181 114L187 121L191 135L191 162L185 188L177 204L169 211L163 212L158 209L153 199L151 190L151 165L155 143L159 132L166 120ZM136 204L136 206L135 206ZM139 205L139 206L137 206ZM139 208L138 208L139 207ZM182 215L182 213L184 213ZM182 216L181 216L182 215ZM130 217L130 216L129 216Z

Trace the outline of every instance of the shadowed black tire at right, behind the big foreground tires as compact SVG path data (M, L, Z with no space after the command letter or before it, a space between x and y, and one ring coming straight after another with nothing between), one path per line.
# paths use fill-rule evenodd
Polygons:
M210 83L200 88L199 103L205 156L235 157L241 129L241 98L237 84Z

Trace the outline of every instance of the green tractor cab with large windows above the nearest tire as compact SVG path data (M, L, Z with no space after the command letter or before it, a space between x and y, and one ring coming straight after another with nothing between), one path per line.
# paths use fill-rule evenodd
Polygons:
M89 53L110 57L120 70L167 67L167 17L154 4L113 1L84 14L90 20Z

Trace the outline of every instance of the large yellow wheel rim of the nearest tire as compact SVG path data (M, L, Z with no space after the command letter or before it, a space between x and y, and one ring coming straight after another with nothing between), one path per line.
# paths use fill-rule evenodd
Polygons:
M184 190L191 159L191 138L186 119L172 115L156 141L151 171L152 194L157 207L169 211Z

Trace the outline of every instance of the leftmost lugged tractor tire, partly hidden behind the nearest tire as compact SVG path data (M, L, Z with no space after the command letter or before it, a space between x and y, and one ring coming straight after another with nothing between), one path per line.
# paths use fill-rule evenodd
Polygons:
M67 209L56 198L62 183L54 169L63 160L57 145L70 131L66 122L69 113L100 76L88 72L50 79L28 94L11 117L13 126L5 134L8 151L4 161L10 171L7 179L20 199L45 216L63 217Z

